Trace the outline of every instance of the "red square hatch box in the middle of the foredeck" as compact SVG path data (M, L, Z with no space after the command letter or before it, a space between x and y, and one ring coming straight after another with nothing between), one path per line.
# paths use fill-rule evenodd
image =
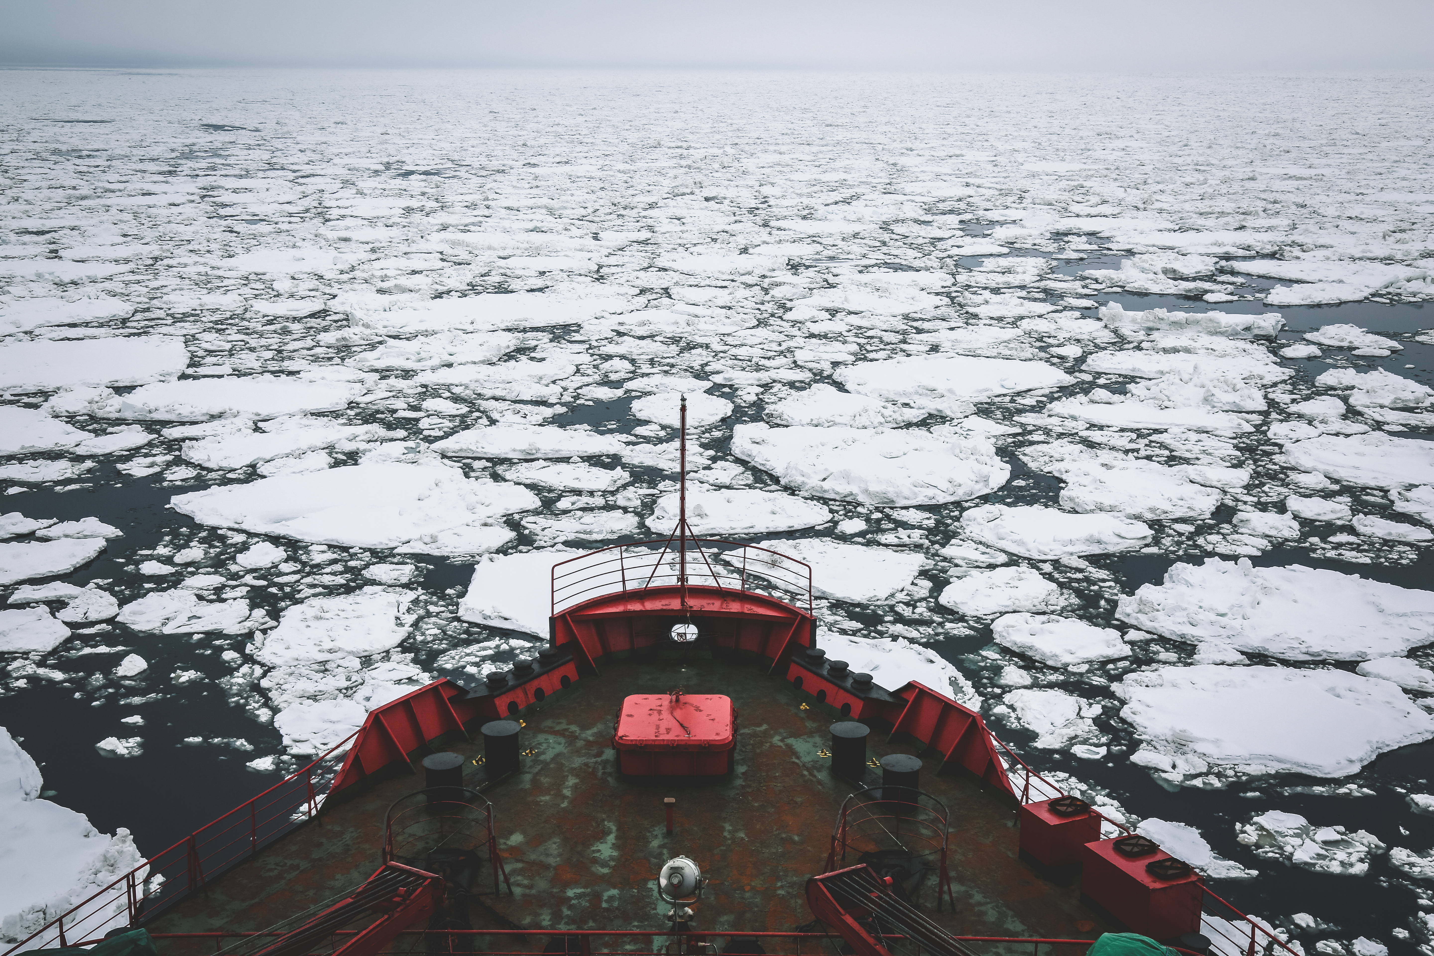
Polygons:
M612 737L618 770L642 777L726 774L736 717L731 698L721 694L634 694L622 701Z

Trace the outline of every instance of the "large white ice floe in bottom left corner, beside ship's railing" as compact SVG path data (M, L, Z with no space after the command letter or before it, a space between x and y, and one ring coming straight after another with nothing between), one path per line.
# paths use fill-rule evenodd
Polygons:
M129 830L99 833L83 814L42 800L42 788L34 760L0 727L0 940L7 943L143 863ZM113 926L129 922L123 884L92 906Z

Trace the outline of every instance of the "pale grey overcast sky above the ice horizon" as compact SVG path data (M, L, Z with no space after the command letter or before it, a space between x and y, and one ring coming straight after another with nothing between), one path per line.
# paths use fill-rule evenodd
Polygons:
M0 62L941 70L1434 67L1431 0L0 0Z

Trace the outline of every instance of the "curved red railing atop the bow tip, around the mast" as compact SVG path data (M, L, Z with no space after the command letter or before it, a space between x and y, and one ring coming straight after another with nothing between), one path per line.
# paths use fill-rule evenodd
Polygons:
M812 612L812 566L806 562L759 545L687 537L611 545L558 562L552 566L552 613L602 595L673 585L804 596Z

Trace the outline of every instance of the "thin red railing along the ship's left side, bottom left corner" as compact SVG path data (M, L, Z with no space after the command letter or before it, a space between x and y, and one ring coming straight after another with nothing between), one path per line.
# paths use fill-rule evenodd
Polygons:
M76 939L103 937L119 926L176 903L228 867L254 856L280 836L311 820L343 764L357 731L321 757L214 823L155 854L89 899L47 922L4 950L72 946Z

